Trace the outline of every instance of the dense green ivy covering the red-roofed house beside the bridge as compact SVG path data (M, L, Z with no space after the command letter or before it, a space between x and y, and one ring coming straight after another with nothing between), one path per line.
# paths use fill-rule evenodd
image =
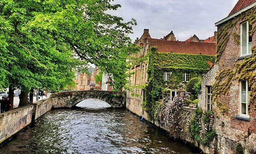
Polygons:
M190 79L201 77L210 69L209 63L214 63L215 59L212 55L161 53L157 52L157 47L151 47L148 52L148 85L145 89L144 110L153 117L164 88L185 88L182 73L189 73ZM170 81L164 81L164 72L172 72Z

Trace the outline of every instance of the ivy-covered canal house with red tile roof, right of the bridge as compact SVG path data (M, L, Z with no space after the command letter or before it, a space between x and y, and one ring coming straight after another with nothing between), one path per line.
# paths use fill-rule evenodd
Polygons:
M127 91L126 107L148 119L154 115L164 88L172 89L172 96L177 95L179 88L185 88L191 78L201 77L215 61L215 43L176 41L173 32L153 39L145 29L136 44L142 49L133 56L144 58L144 62L130 69L134 73L129 78L133 89Z

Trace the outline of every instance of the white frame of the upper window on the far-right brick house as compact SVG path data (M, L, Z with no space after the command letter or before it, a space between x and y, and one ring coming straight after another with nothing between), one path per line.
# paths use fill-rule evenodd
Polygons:
M246 23L246 54L243 55L243 47L242 47L242 40L243 40L243 37L242 37L242 32L243 32L243 27L242 25ZM240 24L240 55L241 56L246 56L246 55L251 55L252 54L252 51L250 50L250 47L249 47L249 35L250 35L250 32L249 32L249 21L245 21L245 22L242 22Z

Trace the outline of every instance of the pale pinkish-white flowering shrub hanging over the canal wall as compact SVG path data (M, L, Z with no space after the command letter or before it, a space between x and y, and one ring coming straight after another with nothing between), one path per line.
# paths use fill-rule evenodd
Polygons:
M172 101L172 96L165 94L162 106L156 110L155 119L158 119L160 124L167 128L170 135L174 138L179 138L182 132L180 109L187 100L188 95L183 97L176 95Z

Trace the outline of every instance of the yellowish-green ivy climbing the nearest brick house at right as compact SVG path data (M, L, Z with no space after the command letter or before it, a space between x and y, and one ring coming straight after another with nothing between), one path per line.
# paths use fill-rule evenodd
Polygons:
M236 24L244 19L248 19L250 24L252 25L252 31L250 35L254 34L256 30L256 6L251 10L243 12L240 16L238 16L233 22L228 22L223 28L218 30L217 34L217 47L216 50L218 51L217 60L222 55L223 51L226 48L226 44L229 41L230 34L234 37L234 42L239 45L240 44L240 36L236 32L232 33L232 29L236 29ZM230 31L231 30L231 31ZM252 50L252 57L244 58L242 62L237 61L234 65L234 68L227 68L223 69L218 73L215 83L213 84L213 103L216 103L220 113L225 114L228 112L228 108L218 101L218 97L223 95L228 95L228 91L233 81L239 80L248 80L249 85L251 86L251 93L249 103L253 105L254 109L256 109L256 73L253 71L256 67L256 47L253 46ZM215 111L214 111L215 112Z

